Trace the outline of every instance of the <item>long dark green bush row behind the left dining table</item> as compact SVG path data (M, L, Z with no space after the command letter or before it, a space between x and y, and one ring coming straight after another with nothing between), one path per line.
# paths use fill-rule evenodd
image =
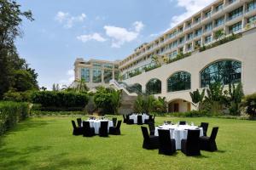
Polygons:
M42 111L82 111L88 95L75 92L43 91L32 94L32 102L40 104Z

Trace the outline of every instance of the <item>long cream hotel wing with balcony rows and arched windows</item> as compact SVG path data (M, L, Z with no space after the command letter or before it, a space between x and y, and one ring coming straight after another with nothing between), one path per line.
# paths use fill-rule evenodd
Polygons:
M119 71L130 87L166 97L169 112L195 109L189 92L212 82L255 93L256 0L215 1L136 48Z

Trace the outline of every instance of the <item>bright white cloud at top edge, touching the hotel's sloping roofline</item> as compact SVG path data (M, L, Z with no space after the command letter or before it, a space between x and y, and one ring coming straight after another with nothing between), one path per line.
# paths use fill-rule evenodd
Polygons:
M172 17L171 28L177 26L177 24L189 18L192 14L195 14L208 4L214 2L214 0L171 0L171 2L173 1L177 2L177 7L184 8L185 12Z

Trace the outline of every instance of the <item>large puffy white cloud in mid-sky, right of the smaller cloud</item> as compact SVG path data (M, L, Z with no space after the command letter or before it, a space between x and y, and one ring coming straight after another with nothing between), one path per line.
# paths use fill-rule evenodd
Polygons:
M112 47L120 48L125 42L131 42L139 36L140 32L143 30L143 22L136 21L132 24L133 28L129 31L126 28L118 26L104 26L106 35L112 38Z

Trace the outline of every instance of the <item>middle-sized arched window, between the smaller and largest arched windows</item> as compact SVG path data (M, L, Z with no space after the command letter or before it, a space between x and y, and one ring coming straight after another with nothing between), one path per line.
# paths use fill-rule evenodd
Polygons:
M176 92L191 88L191 75L189 72L179 71L167 79L167 91Z

